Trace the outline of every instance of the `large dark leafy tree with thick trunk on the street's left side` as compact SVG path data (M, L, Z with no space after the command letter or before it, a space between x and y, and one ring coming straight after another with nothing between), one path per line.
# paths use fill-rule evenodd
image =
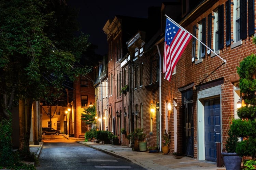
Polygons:
M19 149L29 153L32 102L90 71L77 67L88 35L75 35L77 13L65 0L0 0L0 11L0 121L19 103Z

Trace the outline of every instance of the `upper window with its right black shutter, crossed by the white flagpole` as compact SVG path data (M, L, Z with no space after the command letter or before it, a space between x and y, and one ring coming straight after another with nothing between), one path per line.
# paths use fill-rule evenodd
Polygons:
M202 21L200 21L198 23L198 39L205 44L205 31L206 31L206 26L205 26L205 18L202 19ZM198 46L197 46L197 59L201 59L205 56L205 47L204 45L198 42Z

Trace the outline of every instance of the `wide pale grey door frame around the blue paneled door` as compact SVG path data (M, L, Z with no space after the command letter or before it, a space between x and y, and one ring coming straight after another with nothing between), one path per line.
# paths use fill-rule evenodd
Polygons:
M211 88L199 90L197 93L197 149L198 160L205 160L204 146L204 100L207 98L219 97L220 98L220 111L221 111L221 133L222 133L222 104L221 104L221 85ZM222 143L221 138L221 143ZM222 149L221 149L222 150Z

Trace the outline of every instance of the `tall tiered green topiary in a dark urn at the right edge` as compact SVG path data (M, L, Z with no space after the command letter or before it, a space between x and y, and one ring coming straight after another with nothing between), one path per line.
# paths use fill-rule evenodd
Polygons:
M256 38L254 38L255 42ZM237 67L239 74L239 88L242 94L242 107L238 108L237 115L230 125L229 138L226 144L227 152L237 153L240 157L236 162L237 168L241 166L242 157L245 159L256 158L256 56L247 56ZM234 138L234 139L233 139ZM238 141L240 138L240 141ZM224 155L225 153L222 153ZM252 162L252 161L248 161ZM226 169L229 169L224 159ZM240 164L240 166L239 166ZM246 162L245 162L246 164ZM231 167L232 168L232 167Z

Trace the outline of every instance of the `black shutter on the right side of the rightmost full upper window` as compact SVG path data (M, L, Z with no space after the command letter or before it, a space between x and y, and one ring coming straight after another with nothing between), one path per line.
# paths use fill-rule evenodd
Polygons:
M240 39L247 37L247 0L240 0Z

